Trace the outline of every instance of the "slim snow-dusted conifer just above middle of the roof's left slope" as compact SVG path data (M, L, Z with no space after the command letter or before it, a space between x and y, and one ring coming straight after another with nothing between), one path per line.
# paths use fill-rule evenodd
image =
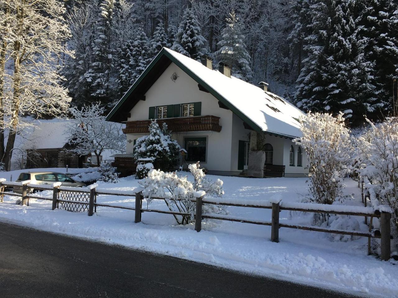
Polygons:
M151 61L150 48L148 37L144 32L142 25L138 26L135 31L135 40L133 42L133 51L131 53L132 59L130 61L133 71L133 77L130 81L131 84L141 75Z

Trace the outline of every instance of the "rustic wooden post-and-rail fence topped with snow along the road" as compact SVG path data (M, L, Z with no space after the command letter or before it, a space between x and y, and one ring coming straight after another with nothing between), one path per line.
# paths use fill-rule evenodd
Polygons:
M13 192L6 192L6 186L22 186L22 194L15 194ZM31 190L52 190L52 197L40 197L37 195L31 194ZM69 201L59 199L60 192L82 192L90 194L90 199L88 202L82 201ZM97 207L109 207L109 208L119 208L126 210L135 211L135 223L139 223L141 221L142 213L144 212L156 212L156 213L164 213L170 215L180 215L180 216L191 216L190 213L184 212L176 212L176 211L166 211L166 210L157 210L157 209L145 209L142 208L142 200L145 199L142 196L142 191L138 192L123 192L123 191L114 191L108 192L107 190L100 190L96 188L96 185L88 186L88 188L72 188L72 187L63 187L63 186L42 186L29 184L29 181L25 182L1 182L0 181L0 201L3 201L4 195L14 195L17 197L21 197L22 205L29 205L29 199L42 199L52 201L52 210L56 209L59 202L71 203L71 204L82 204L88 205L88 216L92 216L94 211L96 211ZM101 204L96 203L97 195L120 195L120 196L129 196L135 197L135 208L133 207L125 207L118 205L109 205L109 204ZM151 199L161 199L160 197L152 197ZM294 228L300 230L309 230L315 232L328 232L332 234L344 234L351 236L362 236L368 237L368 253L370 254L370 239L371 238L381 238L381 255L380 258L382 260L390 259L391 254L391 231L390 231L390 219L391 213L387 212L379 212L377 210L373 210L370 207L361 207L361 211L357 210L347 210L347 206L340 205L324 205L324 204L310 204L310 203L281 203L281 202L268 202L268 201L223 201L222 199L215 199L210 197L197 197L196 199L191 200L196 204L195 209L195 230L200 232L202 229L202 219L217 219L222 221L236 221L240 223L249 223L249 224L260 224L265 226L271 226L271 241L279 242L279 228ZM223 205L223 206L234 206L234 207L249 207L249 208L262 208L262 209L271 209L271 221L253 221L244 218L232 217L228 215L219 215L219 214L209 214L202 212L203 204L213 204L213 205ZM349 209L349 208L348 208ZM355 208L354 208L355 209ZM330 228L321 228L317 226L304 226L304 225L296 225L296 224L287 224L287 223L279 223L279 212L282 210L286 211L301 211L301 212L312 212L312 213L327 213L327 214L337 214L337 215L352 215L352 216L361 216L361 217L370 217L370 227L369 232L361 232L355 230L334 230ZM380 230L371 230L372 220L373 218L380 219Z

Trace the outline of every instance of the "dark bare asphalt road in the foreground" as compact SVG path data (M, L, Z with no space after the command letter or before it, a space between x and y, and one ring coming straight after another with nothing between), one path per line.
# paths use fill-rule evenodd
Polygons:
M0 297L354 296L0 223Z

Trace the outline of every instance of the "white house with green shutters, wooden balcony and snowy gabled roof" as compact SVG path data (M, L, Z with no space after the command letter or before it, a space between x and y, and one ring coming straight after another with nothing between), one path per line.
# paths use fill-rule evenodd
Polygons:
M285 165L285 176L308 174L307 159L292 142L301 136L293 104L230 75L213 70L210 58L195 61L163 48L107 116L125 122L126 163L135 140L148 134L150 119L166 122L187 150L187 162L200 161L211 174L239 174L248 166L252 130L265 134L265 166ZM117 157L116 157L117 161Z

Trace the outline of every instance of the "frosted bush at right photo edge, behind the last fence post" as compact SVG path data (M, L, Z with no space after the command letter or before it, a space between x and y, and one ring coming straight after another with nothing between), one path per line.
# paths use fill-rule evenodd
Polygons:
M386 118L361 136L363 149L361 175L370 181L373 205L388 205L392 210L392 228L398 236L398 118Z

